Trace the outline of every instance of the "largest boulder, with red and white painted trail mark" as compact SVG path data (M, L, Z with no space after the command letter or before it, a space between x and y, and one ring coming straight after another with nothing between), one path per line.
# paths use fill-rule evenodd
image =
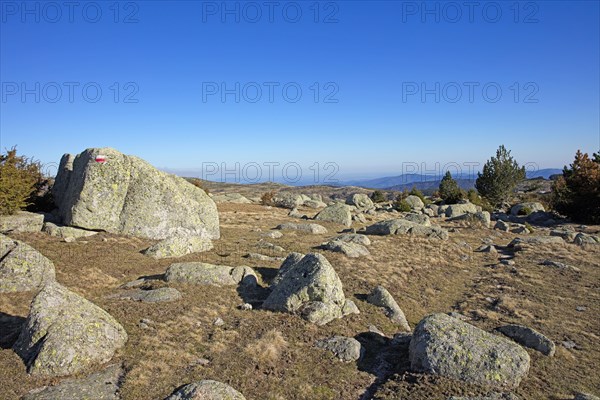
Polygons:
M53 188L65 225L164 239L218 239L215 202L200 188L111 148L63 156Z

